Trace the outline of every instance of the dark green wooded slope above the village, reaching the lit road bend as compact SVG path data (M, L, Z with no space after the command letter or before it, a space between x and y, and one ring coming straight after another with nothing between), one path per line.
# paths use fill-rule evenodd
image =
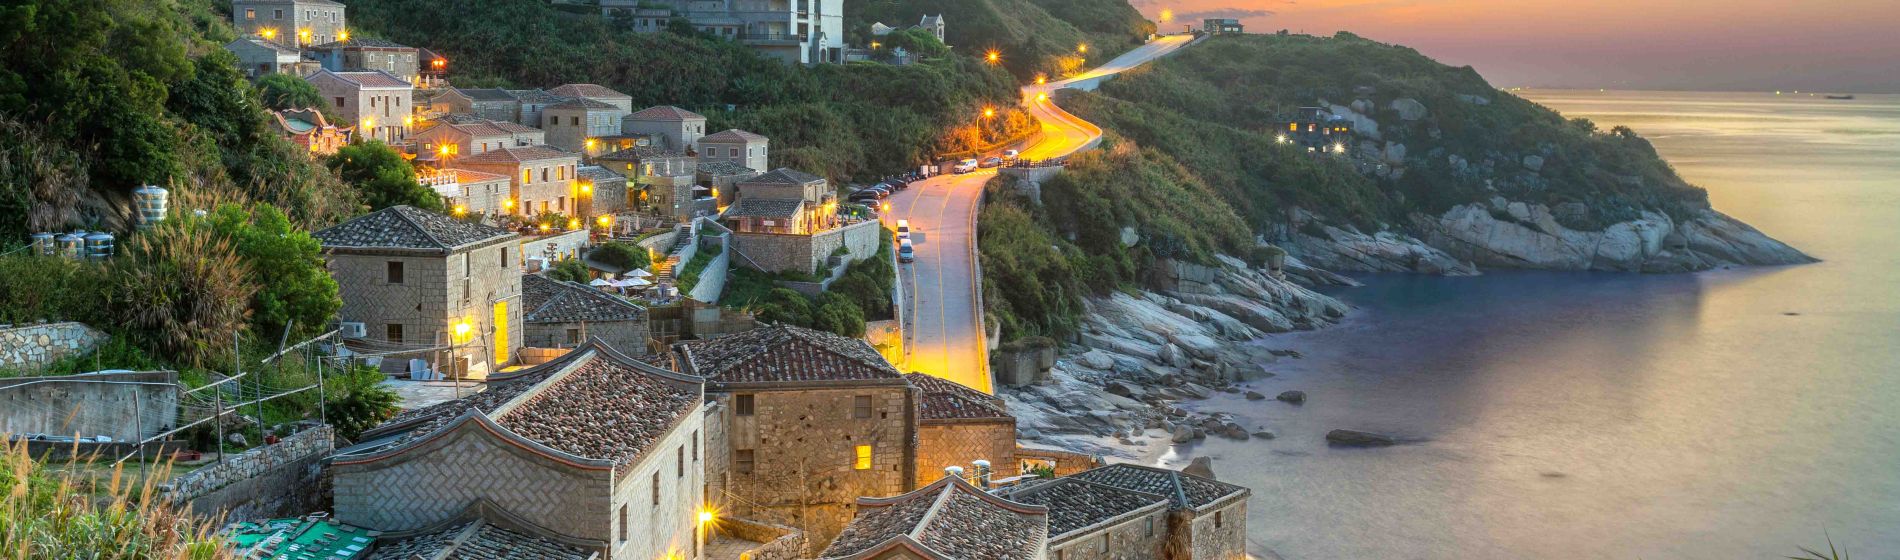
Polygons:
M712 129L771 137L773 167L838 180L914 169L931 154L1030 125L1013 110L1016 80L971 57L802 68L680 25L638 34L598 11L547 2L359 0L350 21L363 36L443 53L456 85L600 84L636 106L676 104L705 114ZM980 120L984 106L1003 114Z

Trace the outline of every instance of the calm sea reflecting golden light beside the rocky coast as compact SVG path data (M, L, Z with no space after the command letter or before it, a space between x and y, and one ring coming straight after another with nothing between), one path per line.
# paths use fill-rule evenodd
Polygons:
M1288 334L1277 440L1208 440L1273 558L1900 554L1900 97L1528 91L1630 125L1714 205L1822 264L1368 277ZM1425 439L1336 450L1328 429Z

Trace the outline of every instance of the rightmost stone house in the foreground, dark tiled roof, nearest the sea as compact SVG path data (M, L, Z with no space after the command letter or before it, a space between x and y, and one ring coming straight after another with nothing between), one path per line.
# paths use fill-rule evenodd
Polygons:
M1246 556L1246 497L1254 495L1252 490L1180 471L1129 463L1089 469L1068 478L1167 497L1167 543L1159 558L1224 560Z

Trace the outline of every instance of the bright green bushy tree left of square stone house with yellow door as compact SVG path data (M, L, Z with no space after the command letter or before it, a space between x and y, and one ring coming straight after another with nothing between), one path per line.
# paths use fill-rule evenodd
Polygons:
M262 334L285 325L300 332L321 328L336 317L342 298L336 279L323 264L323 243L291 226L289 216L270 205L245 211L220 205L209 216L211 230L238 245L238 254L258 285L251 319Z

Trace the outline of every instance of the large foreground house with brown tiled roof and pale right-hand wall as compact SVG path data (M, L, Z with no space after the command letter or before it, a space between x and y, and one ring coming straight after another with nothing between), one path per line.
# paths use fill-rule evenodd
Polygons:
M336 520L416 532L486 501L598 558L699 558L699 378L587 342L397 414L331 463ZM540 558L540 556L536 556Z

